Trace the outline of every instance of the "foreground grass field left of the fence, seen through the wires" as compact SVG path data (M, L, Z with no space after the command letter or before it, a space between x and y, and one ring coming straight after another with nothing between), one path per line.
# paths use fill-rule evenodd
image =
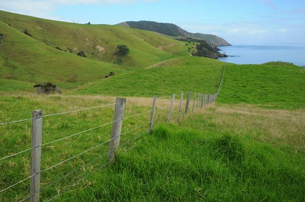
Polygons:
M127 98L122 129L124 135L121 136L122 146L129 141L135 141L139 133L147 132L152 101L152 98ZM47 116L43 118L42 199L51 198L58 191L63 191L75 181L107 163L114 108L111 104L113 103L115 103L115 97L101 96L15 94L0 97L0 123L31 118L32 110L35 109L43 110L43 115ZM172 116L174 120L177 118L177 103L174 107L175 114ZM166 109L162 107L169 104L168 99L158 100L155 117L158 120L155 124L166 120L168 107ZM91 107L95 108L58 114ZM31 148L32 126L31 120L26 120L0 125L0 127L1 191L29 177L30 150L9 158L5 157ZM79 167L81 169L78 169ZM66 176L71 172L73 175ZM61 180L55 182L58 179ZM28 196L28 190L29 179L0 192L0 199L1 201L19 201Z

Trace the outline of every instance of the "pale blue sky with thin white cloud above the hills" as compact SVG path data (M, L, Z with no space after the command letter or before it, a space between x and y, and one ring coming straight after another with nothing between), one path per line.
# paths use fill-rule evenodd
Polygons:
M0 0L0 10L82 24L174 23L233 45L305 43L305 0Z

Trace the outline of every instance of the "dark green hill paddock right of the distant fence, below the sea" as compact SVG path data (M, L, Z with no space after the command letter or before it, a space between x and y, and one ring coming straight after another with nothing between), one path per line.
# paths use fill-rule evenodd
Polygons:
M305 108L305 69L285 62L225 68L221 103L250 103L272 108Z

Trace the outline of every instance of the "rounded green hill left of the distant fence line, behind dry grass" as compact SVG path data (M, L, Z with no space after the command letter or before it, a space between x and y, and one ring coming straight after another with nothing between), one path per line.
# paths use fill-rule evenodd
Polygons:
M148 69L93 82L74 91L74 94L164 96L180 94L181 91L215 93L223 66L223 62L209 58L179 57Z

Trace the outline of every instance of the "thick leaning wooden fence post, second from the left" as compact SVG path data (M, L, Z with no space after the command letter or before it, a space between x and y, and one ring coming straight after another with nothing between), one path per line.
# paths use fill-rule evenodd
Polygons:
M111 161L115 158L115 152L119 146L119 138L122 131L123 125L123 116L125 110L125 102L126 98L116 97L115 100L115 107L114 107L114 115L113 115L113 123L112 123L112 130L110 136L110 145L109 145L109 152L108 152L108 160Z

